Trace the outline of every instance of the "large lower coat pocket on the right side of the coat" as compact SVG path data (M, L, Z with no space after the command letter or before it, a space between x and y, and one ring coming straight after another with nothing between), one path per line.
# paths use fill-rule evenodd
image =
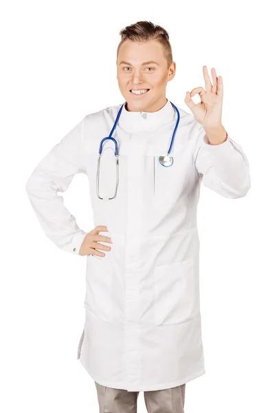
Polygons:
M194 260L156 266L154 315L157 325L177 324L196 315Z

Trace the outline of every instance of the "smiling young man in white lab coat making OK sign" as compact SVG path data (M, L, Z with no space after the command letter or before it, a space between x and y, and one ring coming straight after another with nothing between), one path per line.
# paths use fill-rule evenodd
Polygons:
M166 98L175 76L166 30L138 21L120 35L124 103L85 116L37 165L26 190L47 237L64 251L87 255L77 357L95 381L100 412L136 412L143 391L148 412L182 413L186 383L205 373L200 184L241 198L250 189L249 164L223 127L223 81L214 68L210 78L203 66L205 87L186 92L189 114ZM98 164L100 142L114 125L118 156L115 141L106 139ZM81 172L89 179L96 225L88 233L58 196Z

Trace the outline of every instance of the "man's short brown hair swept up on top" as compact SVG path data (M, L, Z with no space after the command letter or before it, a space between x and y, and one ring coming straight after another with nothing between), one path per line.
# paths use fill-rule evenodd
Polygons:
M121 41L118 45L117 59L120 46L124 41L149 41L157 40L164 48L164 56L167 61L167 67L173 62L172 47L169 41L168 32L160 25L155 25L151 21L137 21L137 23L126 26L120 30ZM118 62L117 62L118 63Z

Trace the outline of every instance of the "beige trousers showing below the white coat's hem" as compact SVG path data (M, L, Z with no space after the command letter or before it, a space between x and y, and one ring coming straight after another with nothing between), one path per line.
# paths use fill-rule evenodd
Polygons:
M137 397L140 392L109 388L98 384L99 413L137 413ZM165 390L144 392L148 413L184 413L185 384Z

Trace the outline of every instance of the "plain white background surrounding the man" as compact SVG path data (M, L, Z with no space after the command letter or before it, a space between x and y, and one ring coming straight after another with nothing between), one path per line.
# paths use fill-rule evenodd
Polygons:
M184 98L205 87L203 65L223 77L223 125L250 161L252 187L244 198L223 198L201 185L206 374L186 384L185 412L275 411L271 7L268 1L2 3L2 412L98 412L94 381L76 359L86 257L47 239L25 183L85 115L124 102L115 65L119 31L139 20L170 35L176 76L166 97L175 105L190 112ZM78 226L91 231L87 176L75 176L63 196Z

